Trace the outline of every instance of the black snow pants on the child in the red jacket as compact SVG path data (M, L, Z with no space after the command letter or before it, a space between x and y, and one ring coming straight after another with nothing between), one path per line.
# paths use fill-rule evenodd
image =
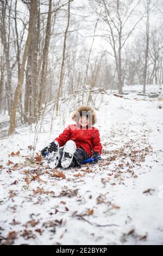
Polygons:
M58 167L61 167L61 159L64 154L64 147L59 148L59 154L60 154L60 158L59 158ZM77 148L76 152L74 152L72 163L69 166L69 168L71 168L71 167L79 167L80 168L82 162L88 158L90 158L89 154L85 150L83 150L82 147Z

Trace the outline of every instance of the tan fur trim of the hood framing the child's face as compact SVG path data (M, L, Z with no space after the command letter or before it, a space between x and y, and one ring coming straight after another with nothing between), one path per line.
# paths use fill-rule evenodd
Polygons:
M72 113L72 120L78 122L79 117L82 116L82 112L86 112L86 114L89 116L91 125L96 123L97 120L95 110L91 106L87 105L79 106L76 111Z

